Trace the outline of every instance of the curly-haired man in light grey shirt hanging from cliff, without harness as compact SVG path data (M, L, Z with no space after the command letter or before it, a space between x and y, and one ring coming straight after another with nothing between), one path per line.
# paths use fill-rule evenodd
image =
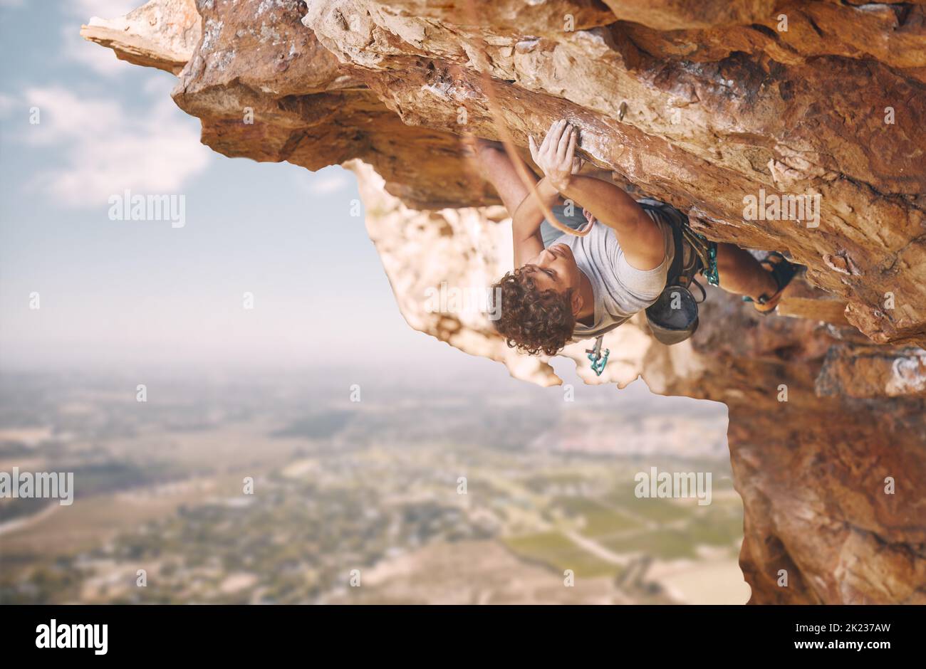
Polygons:
M676 248L686 256L693 251L673 242L672 218L686 221L682 212L655 200L638 203L613 183L578 174L577 140L565 119L539 147L531 138L533 161L544 173L532 187L499 144L480 140L474 151L512 217L515 269L493 286L501 314L494 324L524 353L555 355L569 341L616 328L657 301L673 279L667 275ZM572 229L586 222L592 228L582 237L564 234L544 208ZM570 217L570 208L582 216ZM716 248L720 288L747 296L760 312L775 309L797 266L782 254L760 264L733 244L706 243Z

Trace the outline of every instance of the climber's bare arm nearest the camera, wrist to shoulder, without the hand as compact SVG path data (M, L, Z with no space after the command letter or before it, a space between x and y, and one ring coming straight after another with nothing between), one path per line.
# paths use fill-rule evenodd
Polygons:
M573 175L560 194L582 203L595 218L614 229L620 248L632 267L654 269L662 263L666 244L656 221L613 183Z

